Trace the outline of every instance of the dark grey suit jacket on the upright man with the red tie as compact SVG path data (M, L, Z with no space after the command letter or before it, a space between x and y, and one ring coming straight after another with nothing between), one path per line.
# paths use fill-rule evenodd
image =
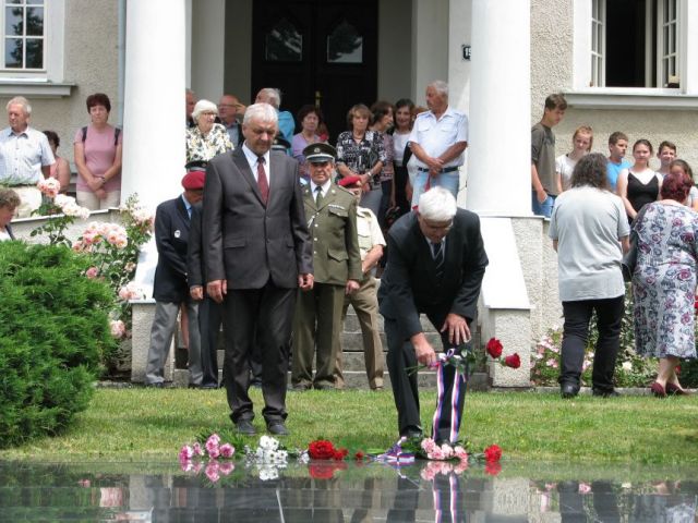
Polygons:
M207 281L228 280L228 289L262 289L269 278L280 288L298 287L298 275L313 271L298 162L270 151L269 197L262 203L242 147L216 156L206 168L204 263Z

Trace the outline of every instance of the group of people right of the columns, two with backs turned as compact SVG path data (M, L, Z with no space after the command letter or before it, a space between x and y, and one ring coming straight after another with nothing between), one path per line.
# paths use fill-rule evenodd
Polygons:
M625 160L628 137L609 137L609 157L589 153L593 133L577 127L573 150L554 158L552 127L567 105L561 95L545 100L543 118L531 130L531 194L534 212L550 217L549 234L557 251L559 297L565 317L559 385L564 398L577 396L595 313L592 391L613 397L621 325L625 314L624 254L631 279L636 352L659 358L650 391L658 398L687 394L678 380L679 358L696 357L696 272L698 267L698 191L690 166L676 145L654 149L640 138L633 162ZM630 239L633 238L633 241ZM626 258L630 259L630 258Z

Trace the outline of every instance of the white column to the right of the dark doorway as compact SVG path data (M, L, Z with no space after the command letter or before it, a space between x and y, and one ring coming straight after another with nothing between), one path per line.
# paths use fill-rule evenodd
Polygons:
M467 208L531 216L530 0L472 0Z

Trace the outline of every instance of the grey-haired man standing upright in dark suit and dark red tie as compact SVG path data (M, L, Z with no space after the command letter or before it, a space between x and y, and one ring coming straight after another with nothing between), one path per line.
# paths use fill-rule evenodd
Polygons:
M296 292L313 285L298 162L269 150L277 132L272 106L250 106L243 145L208 162L204 188L206 291L224 303L228 404L245 435L256 431L248 390L255 342L262 352L267 430L288 434L286 375Z

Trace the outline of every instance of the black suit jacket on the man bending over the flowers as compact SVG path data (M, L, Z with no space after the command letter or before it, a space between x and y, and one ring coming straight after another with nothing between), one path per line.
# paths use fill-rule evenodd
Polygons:
M480 234L480 219L458 209L446 235L444 276L435 277L435 264L416 212L402 216L388 231L387 267L381 280L381 314L395 319L409 338L422 331L421 313L454 313L469 323L478 312L478 296L488 266Z

